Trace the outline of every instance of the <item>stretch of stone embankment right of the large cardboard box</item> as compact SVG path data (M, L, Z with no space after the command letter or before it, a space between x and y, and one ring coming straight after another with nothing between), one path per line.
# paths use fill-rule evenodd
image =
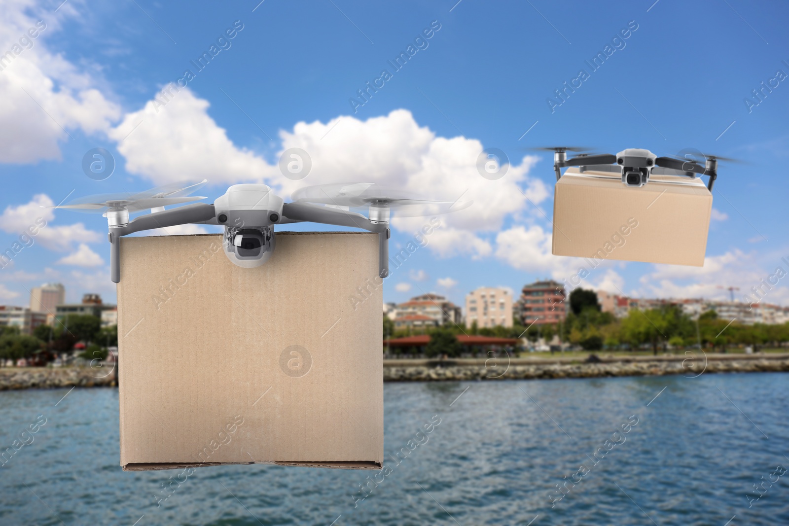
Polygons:
M666 356L589 356L475 360L383 360L385 382L433 380L554 379L605 376L685 375L717 372L789 371L789 354L702 354Z

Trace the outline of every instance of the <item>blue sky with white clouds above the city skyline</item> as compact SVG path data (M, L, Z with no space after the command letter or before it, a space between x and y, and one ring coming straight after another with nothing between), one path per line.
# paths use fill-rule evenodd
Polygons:
M473 197L384 289L387 301L436 291L462 303L478 286L518 290L573 273L577 262L550 254L552 159L523 148L578 144L657 155L694 147L747 162L720 166L705 267L615 262L585 286L722 299L728 293L717 285L745 292L786 268L789 83L778 81L750 110L743 99L777 70L789 74L789 6L456 2L4 2L0 53L13 53L36 21L46 28L0 71L2 250L41 215L39 204L72 191L206 177L201 195L212 201L236 182L267 182L288 196L299 185L378 181ZM241 30L217 44L234 24ZM591 72L585 60L629 25L634 31ZM190 61L211 45L226 49L198 71ZM387 61L409 45L421 49L395 70ZM589 78L551 108L548 97L581 68ZM171 100L157 95L186 69L194 75L186 88ZM391 75L383 87L364 105L351 103L383 69ZM94 147L116 162L104 181L81 169ZM279 173L286 147L311 155L303 181ZM510 159L500 181L475 168L489 147ZM63 282L69 300L99 292L114 301L104 221L47 216L32 246L0 269L0 304L26 305L27 289L49 281ZM395 225L394 246L420 225ZM768 301L789 304L786 284Z

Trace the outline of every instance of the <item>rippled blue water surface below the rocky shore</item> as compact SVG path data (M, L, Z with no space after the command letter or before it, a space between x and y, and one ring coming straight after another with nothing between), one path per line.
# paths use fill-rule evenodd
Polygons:
M245 465L158 507L176 472L121 471L118 391L67 392L0 393L3 449L47 419L0 468L0 524L789 524L783 373L389 383L391 472L364 500L372 472Z

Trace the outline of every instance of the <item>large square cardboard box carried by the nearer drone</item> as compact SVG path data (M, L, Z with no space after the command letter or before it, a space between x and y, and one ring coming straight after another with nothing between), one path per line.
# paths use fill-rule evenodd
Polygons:
M121 243L124 470L382 466L377 234L277 233L253 269L220 235Z

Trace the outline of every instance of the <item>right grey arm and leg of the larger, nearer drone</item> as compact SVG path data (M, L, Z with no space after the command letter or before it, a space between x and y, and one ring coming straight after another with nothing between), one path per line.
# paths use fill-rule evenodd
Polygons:
M325 225L351 226L378 233L378 275L380 278L389 275L391 230L388 225L370 222L364 215L356 212L321 207L312 203L285 203L282 205L282 216L294 222L308 221Z

